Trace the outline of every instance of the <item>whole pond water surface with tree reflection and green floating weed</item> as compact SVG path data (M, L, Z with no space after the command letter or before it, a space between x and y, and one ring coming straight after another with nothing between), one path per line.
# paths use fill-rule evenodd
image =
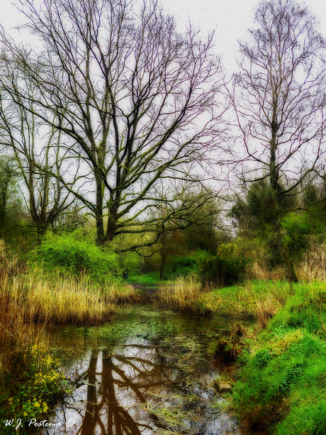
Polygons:
M227 321L153 308L124 309L111 323L56 331L72 397L44 435L231 435L206 345Z

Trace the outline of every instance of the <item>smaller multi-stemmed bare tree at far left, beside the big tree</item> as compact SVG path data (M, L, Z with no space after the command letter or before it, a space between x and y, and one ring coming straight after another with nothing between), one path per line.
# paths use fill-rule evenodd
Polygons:
M4 92L1 97L0 143L13 153L16 172L28 192L26 205L40 244L47 228L74 201L60 182L64 172L64 155L60 150L62 133L37 122L33 103L27 110L23 104L10 101Z

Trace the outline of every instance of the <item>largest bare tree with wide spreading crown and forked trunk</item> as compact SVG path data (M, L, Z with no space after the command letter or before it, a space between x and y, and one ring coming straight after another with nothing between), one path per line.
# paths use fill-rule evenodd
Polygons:
M212 37L181 35L156 1L139 13L123 0L21 4L43 53L3 36L3 87L31 110L33 83L33 114L60 130L72 157L89 167L77 197L96 219L97 242L147 231L158 180L193 182L189 164L201 165L220 139Z

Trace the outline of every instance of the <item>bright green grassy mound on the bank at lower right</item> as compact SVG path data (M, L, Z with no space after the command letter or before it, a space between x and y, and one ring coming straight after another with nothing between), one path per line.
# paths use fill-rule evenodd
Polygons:
M275 435L326 433L326 286L298 284L266 329L245 340L233 407Z

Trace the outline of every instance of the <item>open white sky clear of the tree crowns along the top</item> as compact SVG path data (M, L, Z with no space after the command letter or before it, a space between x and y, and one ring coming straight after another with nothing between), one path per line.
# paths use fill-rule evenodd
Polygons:
M78 1L78 0L74 0ZM164 11L175 16L179 29L189 21L203 34L215 31L215 50L223 55L223 65L232 72L236 68L238 43L252 28L254 12L259 0L159 0ZM326 38L326 0L306 0L297 3L308 6L320 22L320 31ZM16 0L0 0L0 23L7 29L23 22L13 4Z

